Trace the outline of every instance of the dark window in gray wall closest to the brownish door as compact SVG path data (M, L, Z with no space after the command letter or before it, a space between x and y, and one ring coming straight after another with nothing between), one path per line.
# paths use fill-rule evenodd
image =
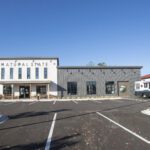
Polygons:
M114 81L106 82L106 94L114 94L115 93L115 83Z

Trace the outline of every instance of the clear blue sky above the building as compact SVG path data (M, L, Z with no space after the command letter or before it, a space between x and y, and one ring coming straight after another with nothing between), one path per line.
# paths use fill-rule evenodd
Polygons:
M0 57L11 56L150 74L150 0L0 0Z

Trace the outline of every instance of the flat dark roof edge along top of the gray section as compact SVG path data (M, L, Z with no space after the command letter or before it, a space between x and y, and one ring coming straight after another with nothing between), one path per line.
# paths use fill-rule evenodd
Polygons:
M141 69L142 66L59 66L58 69Z

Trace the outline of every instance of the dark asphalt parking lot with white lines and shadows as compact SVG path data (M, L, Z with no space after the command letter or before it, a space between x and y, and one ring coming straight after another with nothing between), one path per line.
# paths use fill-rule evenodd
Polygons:
M1 150L149 150L150 100L0 102Z

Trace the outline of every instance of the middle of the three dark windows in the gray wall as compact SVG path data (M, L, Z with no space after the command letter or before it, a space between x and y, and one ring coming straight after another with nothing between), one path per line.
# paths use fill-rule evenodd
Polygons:
M96 81L87 81L86 90L88 95L96 94Z

